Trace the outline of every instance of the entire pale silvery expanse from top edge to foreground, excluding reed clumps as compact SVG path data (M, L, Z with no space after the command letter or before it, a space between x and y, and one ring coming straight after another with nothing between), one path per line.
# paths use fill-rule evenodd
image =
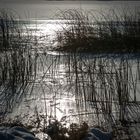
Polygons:
M108 123L110 118L101 109L105 109L107 112L110 111L109 109L113 110L111 117L114 120L111 122L118 119L120 106L116 101L118 99L116 88L121 81L123 82L121 86L124 86L125 90L130 93L130 100L135 100L134 95L138 101L140 100L139 58L125 57L127 61L123 61L121 56L106 57L104 55L96 58L91 54L75 56L52 51L44 53L44 45L45 47L50 44L55 46L54 33L62 29L61 25L65 26L64 21L59 21L55 16L59 10L74 8L108 13L110 9L115 8L118 12L123 13L123 10L127 11L128 8L133 12L137 11L139 7L139 1L1 3L0 8L13 9L17 11L21 19L30 20L30 24L26 24L26 26L34 36L40 37L41 35L46 39L49 38L45 42L43 38L37 46L39 49L37 76L34 83L28 84L25 98L20 106L19 103L17 104L9 116L12 118L21 117L22 121L32 125L35 125L38 114L41 123L47 116L47 119L63 119L67 122L86 121L91 125L106 124L107 127L110 127L111 124ZM57 24L58 22L59 24ZM100 70L103 70L101 75L99 74ZM118 79L116 70L120 72ZM130 74L129 79L125 77L125 72ZM121 77L121 74L125 76ZM106 91L107 89L109 90ZM111 95L112 93L114 95ZM93 97L93 95L96 96ZM106 99L105 104L103 104L104 99ZM107 99L113 102L108 103ZM132 106L132 109L136 108L137 106ZM128 112L129 109L127 108ZM136 120L139 118L138 113L133 114L133 118L136 117ZM126 117L131 119L131 115Z

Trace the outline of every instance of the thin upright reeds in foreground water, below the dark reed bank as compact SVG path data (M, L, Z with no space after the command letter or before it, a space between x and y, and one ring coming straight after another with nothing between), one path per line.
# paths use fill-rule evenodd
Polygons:
M97 115L95 118L98 125L101 125L101 120L110 125L108 127L116 125L118 120L122 125L135 122L135 115L138 115L138 112L130 119L128 116L132 110L130 112L128 110L132 102L137 106L139 81L134 71L138 73L139 59L134 61L124 56L116 59L106 57L91 59L86 54L79 53L75 56L76 59L70 67L75 74L72 81L75 81L73 88L76 100L81 101L81 106L85 104L87 110L90 105L93 106L92 111Z

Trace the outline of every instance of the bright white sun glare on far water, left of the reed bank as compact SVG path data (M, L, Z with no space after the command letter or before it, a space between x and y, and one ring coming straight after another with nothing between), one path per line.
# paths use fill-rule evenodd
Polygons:
M68 28L66 20L31 20L27 24L27 29L38 41L38 48L48 47L50 49L56 48L58 45L57 35L60 34L64 28Z

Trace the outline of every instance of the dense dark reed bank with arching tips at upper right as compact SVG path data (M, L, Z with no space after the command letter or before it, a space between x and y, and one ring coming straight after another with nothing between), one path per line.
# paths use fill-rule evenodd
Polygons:
M67 52L131 53L139 51L140 16L137 13L109 14L65 10L60 19L66 20L57 40L57 50ZM60 40L60 38L62 38Z

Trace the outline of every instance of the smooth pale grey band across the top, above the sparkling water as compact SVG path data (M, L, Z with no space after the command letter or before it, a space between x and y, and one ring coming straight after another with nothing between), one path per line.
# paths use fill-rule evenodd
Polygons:
M21 18L33 19L50 19L53 18L58 10L65 9L83 9L85 11L102 11L102 13L110 9L116 9L119 13L123 10L140 9L139 1L38 1L29 2L0 2L1 9L12 9ZM55 17L56 18L56 17Z

